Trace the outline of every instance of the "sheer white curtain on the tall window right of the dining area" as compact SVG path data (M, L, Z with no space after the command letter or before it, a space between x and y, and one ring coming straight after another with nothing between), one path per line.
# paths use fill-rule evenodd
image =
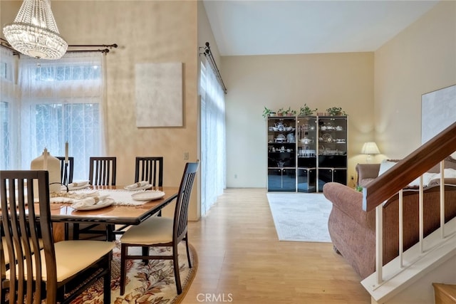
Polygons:
M201 215L226 187L225 100L207 61L201 64Z

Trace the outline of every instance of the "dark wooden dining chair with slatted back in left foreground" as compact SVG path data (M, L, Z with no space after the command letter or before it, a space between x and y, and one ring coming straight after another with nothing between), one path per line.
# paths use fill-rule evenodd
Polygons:
M46 304L71 303L99 278L103 278L103 301L110 303L114 243L54 243L48 171L0 171L0 199L9 255L4 278L9 303L37 304L44 299Z

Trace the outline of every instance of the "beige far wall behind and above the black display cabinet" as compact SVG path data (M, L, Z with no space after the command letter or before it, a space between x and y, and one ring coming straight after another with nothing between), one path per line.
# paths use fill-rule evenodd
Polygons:
M222 57L227 84L227 187L266 187L264 106L306 103L348 113L348 177L373 140L373 53Z

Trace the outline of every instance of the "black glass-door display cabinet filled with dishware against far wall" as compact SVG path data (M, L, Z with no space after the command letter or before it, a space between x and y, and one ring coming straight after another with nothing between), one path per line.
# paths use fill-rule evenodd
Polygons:
M321 192L347 183L347 117L267 118L268 191Z

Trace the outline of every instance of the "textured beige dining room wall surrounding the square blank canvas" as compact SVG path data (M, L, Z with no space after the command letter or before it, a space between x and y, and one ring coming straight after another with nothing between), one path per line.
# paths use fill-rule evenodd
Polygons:
M8 12L1 1L1 23L11 22L21 2ZM197 2L196 1L52 1L61 35L69 44L118 43L108 66L108 149L118 157L117 184L133 182L135 156L165 157L164 185L178 185L186 160L197 155ZM135 64L182 62L183 127L138 129L135 125ZM197 192L190 219L199 217ZM172 211L167 209L165 214Z

